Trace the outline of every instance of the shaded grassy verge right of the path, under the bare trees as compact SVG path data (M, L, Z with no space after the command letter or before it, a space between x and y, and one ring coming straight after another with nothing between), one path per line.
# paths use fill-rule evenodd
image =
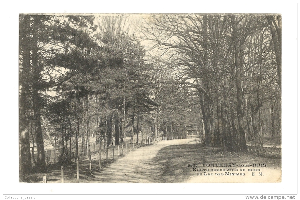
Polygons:
M281 149L265 148L264 152L230 153L212 147L201 147L199 144L172 145L162 148L155 156L153 163L160 168L159 182L185 182L195 172L188 164L202 163L266 163L267 168L281 168ZM154 178L155 179L155 178Z

